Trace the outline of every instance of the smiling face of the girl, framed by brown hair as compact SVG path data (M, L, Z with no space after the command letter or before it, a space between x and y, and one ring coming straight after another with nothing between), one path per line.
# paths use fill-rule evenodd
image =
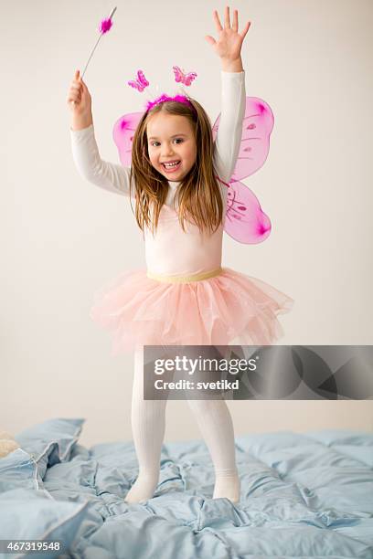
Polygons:
M168 181L181 181L197 158L197 144L191 122L184 116L158 112L149 120L146 134L152 165Z

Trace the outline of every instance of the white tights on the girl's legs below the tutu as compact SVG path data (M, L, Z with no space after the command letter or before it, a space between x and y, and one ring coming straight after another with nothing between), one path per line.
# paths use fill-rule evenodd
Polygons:
M139 474L125 501L151 499L159 480L161 447L165 437L167 400L144 400L144 352L134 354L131 423ZM240 479L236 467L234 432L229 408L221 400L187 400L197 418L215 470L213 499L226 497L240 501Z

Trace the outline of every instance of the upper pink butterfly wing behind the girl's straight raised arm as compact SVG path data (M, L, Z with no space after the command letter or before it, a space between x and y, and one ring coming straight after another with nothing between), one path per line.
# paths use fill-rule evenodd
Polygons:
M214 140L219 121L220 115L212 128ZM258 97L246 98L240 152L230 181L240 181L250 176L265 163L270 150L273 122L272 109L268 103Z

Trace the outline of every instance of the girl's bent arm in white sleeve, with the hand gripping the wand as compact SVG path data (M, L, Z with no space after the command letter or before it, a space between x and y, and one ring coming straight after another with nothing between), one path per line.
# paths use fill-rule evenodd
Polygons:
M91 95L79 73L77 70L68 94L68 103L72 111L70 139L74 162L80 175L90 183L110 192L128 196L130 195L130 169L101 160L94 136Z

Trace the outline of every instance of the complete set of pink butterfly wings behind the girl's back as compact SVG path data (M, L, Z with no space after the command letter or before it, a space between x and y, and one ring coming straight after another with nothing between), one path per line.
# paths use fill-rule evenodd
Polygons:
M125 114L114 124L112 135L124 167L131 166L133 134L143 114ZM212 128L214 140L219 133L219 121L220 116ZM270 218L262 211L256 195L240 180L256 173L265 163L273 123L271 107L265 101L257 97L246 98L237 163L229 183L223 183L228 188L224 231L240 243L261 243L271 233Z

